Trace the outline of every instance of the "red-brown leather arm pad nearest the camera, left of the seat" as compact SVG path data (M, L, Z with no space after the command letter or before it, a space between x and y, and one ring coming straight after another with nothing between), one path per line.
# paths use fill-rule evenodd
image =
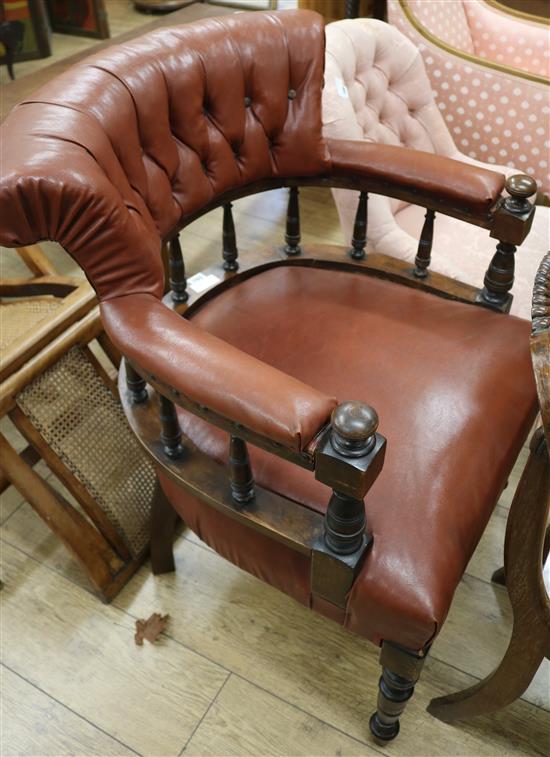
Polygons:
M296 452L328 422L336 400L202 331L152 295L101 303L123 355L185 397Z

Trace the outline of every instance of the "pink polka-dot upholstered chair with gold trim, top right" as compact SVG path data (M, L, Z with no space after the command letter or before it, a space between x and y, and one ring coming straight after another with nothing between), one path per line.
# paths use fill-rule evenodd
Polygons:
M388 20L420 50L459 147L531 174L550 202L548 22L482 0L388 0Z

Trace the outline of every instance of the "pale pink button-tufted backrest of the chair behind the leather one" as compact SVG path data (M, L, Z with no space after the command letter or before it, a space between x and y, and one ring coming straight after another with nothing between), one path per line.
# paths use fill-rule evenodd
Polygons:
M325 136L335 139L361 139L457 157L420 53L383 21L344 20L326 27L323 124ZM342 229L350 239L356 200L349 190L333 193ZM402 232L394 214L404 206L399 200L371 195L369 240L379 252L399 255Z

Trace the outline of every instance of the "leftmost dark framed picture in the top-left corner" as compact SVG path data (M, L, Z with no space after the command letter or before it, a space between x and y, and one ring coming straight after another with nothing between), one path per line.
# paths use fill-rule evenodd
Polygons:
M45 58L52 54L44 0L2 0L0 23L4 22L13 27L18 40L14 61Z

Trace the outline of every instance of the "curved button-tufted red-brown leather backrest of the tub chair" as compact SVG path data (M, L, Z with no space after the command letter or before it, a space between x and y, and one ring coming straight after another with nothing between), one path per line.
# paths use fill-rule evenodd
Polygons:
M209 19L86 59L2 127L0 241L57 240L102 299L159 296L161 239L185 216L327 169L323 65L309 11Z

